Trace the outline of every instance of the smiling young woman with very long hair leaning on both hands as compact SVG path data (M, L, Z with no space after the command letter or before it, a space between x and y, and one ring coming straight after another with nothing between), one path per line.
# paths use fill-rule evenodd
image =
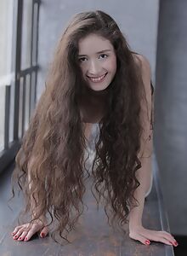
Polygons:
M71 20L16 157L14 176L31 222L14 229L15 240L46 236L47 214L61 237L75 228L85 192L85 150L98 124L92 175L112 219L122 225L129 217L129 236L143 244L177 246L167 232L142 225L151 185L152 89L149 62L129 49L111 16L95 11Z

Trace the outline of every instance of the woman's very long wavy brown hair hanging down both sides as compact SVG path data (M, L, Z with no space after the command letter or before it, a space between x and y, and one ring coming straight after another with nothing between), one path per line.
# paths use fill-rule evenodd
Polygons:
M99 198L104 198L106 214L109 207L113 212L111 222L117 219L120 226L137 203L133 193L139 186L135 174L141 167L140 113L141 102L146 102L140 68L110 15L102 11L80 13L59 40L13 174L13 182L23 190L25 213L31 212L35 218L49 213L50 224L57 221L55 231L64 239L75 229L84 208L87 143L79 99L88 85L78 62L78 42L90 33L110 40L117 60L116 75L107 88L107 111L99 121L94 186ZM37 212L31 207L32 201Z

